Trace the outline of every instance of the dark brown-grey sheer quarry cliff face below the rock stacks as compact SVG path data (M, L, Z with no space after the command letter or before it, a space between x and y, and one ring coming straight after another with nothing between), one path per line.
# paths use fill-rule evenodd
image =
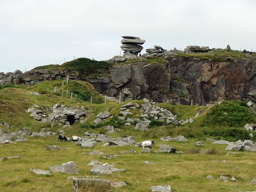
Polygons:
M256 60L226 58L225 62L199 58L167 57L168 63L114 65L109 74L90 79L67 71L36 70L6 77L9 82L35 85L43 80L85 80L103 95L121 101L148 98L154 102L206 105L225 100L256 103Z

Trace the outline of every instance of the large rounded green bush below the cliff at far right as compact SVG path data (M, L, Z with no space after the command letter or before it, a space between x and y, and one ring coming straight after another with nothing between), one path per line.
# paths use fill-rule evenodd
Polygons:
M254 121L254 119L255 114L251 112L246 102L226 101L212 107L205 117L205 123L202 125L240 127Z

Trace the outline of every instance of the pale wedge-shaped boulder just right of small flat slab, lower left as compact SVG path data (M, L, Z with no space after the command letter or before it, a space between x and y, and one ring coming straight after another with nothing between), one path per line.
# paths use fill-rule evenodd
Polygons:
M79 174L77 165L73 161L63 163L62 165L52 166L52 167L50 167L50 172L54 172L54 173L61 172L61 173L66 173L66 174Z

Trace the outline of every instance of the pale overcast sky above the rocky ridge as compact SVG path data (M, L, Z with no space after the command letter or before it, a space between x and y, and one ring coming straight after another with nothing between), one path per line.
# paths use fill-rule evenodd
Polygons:
M123 54L121 36L256 51L256 0L0 0L0 72Z

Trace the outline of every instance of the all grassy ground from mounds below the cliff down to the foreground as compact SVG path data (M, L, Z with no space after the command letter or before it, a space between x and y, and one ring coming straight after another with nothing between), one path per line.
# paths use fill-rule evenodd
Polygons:
M74 82L72 82L74 83ZM26 112L33 104L38 105L45 110L47 107L53 107L56 103L65 104L67 107L84 106L88 110L87 121L85 124L74 124L70 128L64 129L67 137L72 135L82 136L85 131L104 134L103 125L114 125L121 131L115 134L108 134L116 138L135 136L136 142L144 140L154 140L155 146L153 150L159 152L159 144L170 145L175 147L177 151L183 154L167 154L167 153L141 153L142 147L131 146L123 147L102 147L103 143L97 143L92 148L82 148L75 143L57 143L58 135L45 138L27 137L26 142L17 142L17 144L0 145L0 158L20 156L19 159L4 159L0 161L0 191L3 192L72 192L72 179L67 180L69 176L87 176L92 175L90 170L92 166L86 166L90 161L100 161L115 165L117 169L126 169L124 173L114 173L114 175L100 176L101 179L108 179L110 182L126 182L127 185L121 188L110 189L111 192L150 192L151 186L155 185L171 185L174 192L246 192L255 191L255 186L250 182L256 177L255 174L255 152L239 151L234 155L225 156L227 145L211 144L206 141L206 137L216 139L227 139L233 141L241 135L243 138L248 137L249 133L253 133L251 140L255 141L255 132L245 131L243 125L235 124L235 127L228 126L223 123L225 117L229 120L238 120L238 117L248 116L252 114L247 110L246 103L241 102L225 102L221 105L212 107L214 113L206 112L207 107L204 106L173 106L168 103L159 103L159 107L163 107L171 111L178 119L186 119L195 116L199 110L204 109L200 116L194 118L195 122L188 125L174 126L173 124L162 126L157 121L153 121L148 131L139 131L133 129L134 125L125 127L124 122L117 120L120 116L120 107L126 103L118 104L114 101L107 101L106 104L90 103L86 100L74 101L68 97L61 97L58 94L48 93L47 89L53 89L55 86L62 85L62 81L45 81L40 85L32 87L15 86L0 90L0 122L6 122L10 128L1 125L0 128L7 133L17 131L27 126L31 128L29 131L39 132L41 128L48 128L46 131L58 132L62 127L53 126L50 123L43 124ZM100 96L94 91L90 85L82 82L76 84L65 85L65 89L76 88L81 91L81 95ZM87 89L85 89L87 88ZM31 93L41 92L42 96L38 97ZM134 100L132 103L143 104L143 101ZM222 106L222 107L221 107ZM230 107L232 106L232 107ZM234 109L231 110L230 109ZM242 110L239 112L239 110ZM114 118L103 121L100 126L94 126L93 121L99 112L110 112ZM131 111L130 117L139 117L142 112L139 110ZM218 117L218 118L217 118ZM210 119L212 121L207 121ZM223 118L223 119L222 119ZM245 119L245 118L243 118ZM216 120L216 121L213 121ZM221 121L220 124L217 124ZM212 124L216 122L216 124ZM242 122L239 120L239 122ZM159 123L159 122L158 122ZM249 118L249 124L255 124L255 116ZM161 137L176 137L184 135L189 142L164 142ZM242 139L242 138L241 138ZM13 137L15 140L15 137ZM196 141L203 141L204 147L196 147ZM67 150L50 151L46 150L46 145L57 145ZM136 151L134 154L124 154L120 152L128 152L130 149ZM106 159L102 156L90 156L83 154L92 151L106 152L106 155L120 155L112 159ZM220 161L228 162L220 162ZM36 175L32 169L49 170L50 166L61 165L63 163L74 161L79 169L80 174L63 174L51 173L50 176ZM145 164L144 161L150 161L154 164ZM215 180L207 179L207 175L212 175ZM224 182L219 179L220 175L234 176L237 180ZM93 190L86 190L93 191Z

